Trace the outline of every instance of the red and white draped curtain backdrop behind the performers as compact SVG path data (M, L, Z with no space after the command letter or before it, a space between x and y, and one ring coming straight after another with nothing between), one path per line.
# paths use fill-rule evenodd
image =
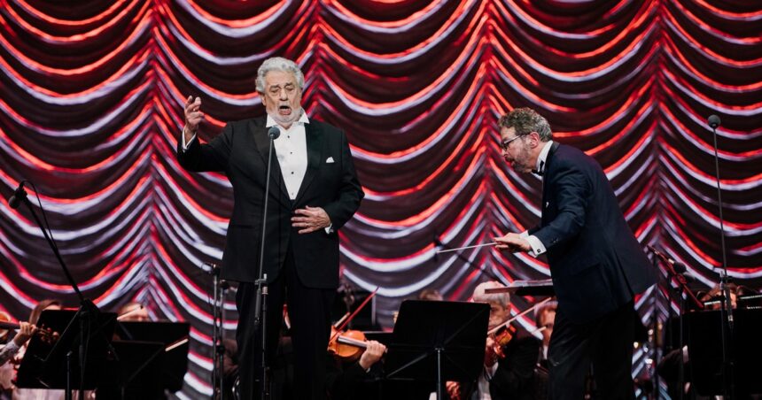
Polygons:
M276 55L301 65L310 117L350 138L367 196L341 231L342 271L379 287L386 327L423 288L465 300L488 279L453 253L435 257L434 237L465 246L539 221L540 180L512 171L497 145L497 119L519 106L594 156L638 239L704 287L722 265L706 123L717 114L727 270L762 283L759 2L0 4L0 192L35 183L74 279L102 309L135 299L154 318L191 322L181 396L211 393L203 264L222 257L232 199L224 176L175 161L183 99L202 98L204 140L224 121L262 115L253 80ZM463 258L505 283L548 277L543 259ZM15 318L43 298L76 305L34 219L5 202L0 260L0 308ZM656 293L637 302L646 322L675 307ZM531 316L520 323L533 327ZM635 374L648 373L647 356L637 352Z

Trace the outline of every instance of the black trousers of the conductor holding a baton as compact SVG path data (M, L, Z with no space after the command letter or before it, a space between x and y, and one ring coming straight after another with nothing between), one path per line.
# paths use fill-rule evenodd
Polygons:
M574 324L559 308L548 347L550 398L579 400L593 365L595 398L634 399L633 302L602 318Z

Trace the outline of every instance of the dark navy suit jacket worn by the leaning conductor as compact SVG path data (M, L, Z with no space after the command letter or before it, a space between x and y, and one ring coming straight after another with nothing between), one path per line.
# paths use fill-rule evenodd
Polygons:
M543 177L542 219L530 229L548 250L559 312L583 323L617 310L656 282L601 165L553 143Z

